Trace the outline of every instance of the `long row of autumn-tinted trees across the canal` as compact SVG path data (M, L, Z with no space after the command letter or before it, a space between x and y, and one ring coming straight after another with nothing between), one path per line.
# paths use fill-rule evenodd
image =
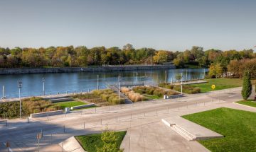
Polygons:
M171 52L152 48L134 49L130 44L119 47L41 47L13 49L0 47L0 68L14 67L65 67L65 66L99 66L102 64L164 64L173 62L178 67L188 65L200 67L219 67L213 75L228 71L231 61L256 58L253 49L242 51L219 49L203 50L203 47L192 47L183 52ZM233 63L233 62L231 62ZM215 69L213 67L213 69ZM242 73L241 73L242 74Z

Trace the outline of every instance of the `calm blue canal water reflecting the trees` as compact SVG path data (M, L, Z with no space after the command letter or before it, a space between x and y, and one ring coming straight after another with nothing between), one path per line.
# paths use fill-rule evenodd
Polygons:
M60 74L10 74L0 76L0 90L2 86L6 98L18 97L18 81L22 81L21 96L43 95L43 78L45 78L45 93L57 94L87 91L97 88L97 75L99 75L99 88L119 83L161 83L176 81L176 74L182 73L183 79L191 80L203 78L208 69L163 69L142 71L105 71L105 72L78 72Z

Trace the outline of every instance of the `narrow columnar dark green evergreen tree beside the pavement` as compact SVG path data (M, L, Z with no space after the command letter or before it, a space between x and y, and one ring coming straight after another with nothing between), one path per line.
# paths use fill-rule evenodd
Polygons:
M243 76L242 83L242 98L247 100L252 94L252 83L250 81L250 71L246 70Z

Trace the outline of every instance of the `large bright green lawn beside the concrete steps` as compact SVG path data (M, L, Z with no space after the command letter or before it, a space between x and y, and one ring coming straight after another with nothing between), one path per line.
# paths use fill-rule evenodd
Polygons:
M256 113L221 107L183 118L225 136L198 141L210 151L256 151Z

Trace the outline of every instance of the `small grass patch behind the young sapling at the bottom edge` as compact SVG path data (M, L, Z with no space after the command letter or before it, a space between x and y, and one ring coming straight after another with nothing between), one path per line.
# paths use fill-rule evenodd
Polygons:
M127 131L114 132L118 136L117 146L119 147L124 139ZM87 152L96 152L96 147L102 147L103 143L101 140L101 134L90 134L83 136L75 136L82 148Z

